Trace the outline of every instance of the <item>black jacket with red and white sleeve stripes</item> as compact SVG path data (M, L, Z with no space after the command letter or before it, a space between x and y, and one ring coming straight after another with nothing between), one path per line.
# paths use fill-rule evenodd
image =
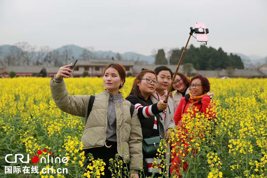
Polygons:
M158 136L158 126L160 122L159 113L163 112L158 110L158 103L153 104L152 101L145 100L140 94L138 95L138 98L136 98L134 96L134 90L132 90L130 95L125 99L130 101L131 104L134 104L135 106L141 123L143 138L147 138L149 136ZM153 129L155 117L157 118L157 130Z

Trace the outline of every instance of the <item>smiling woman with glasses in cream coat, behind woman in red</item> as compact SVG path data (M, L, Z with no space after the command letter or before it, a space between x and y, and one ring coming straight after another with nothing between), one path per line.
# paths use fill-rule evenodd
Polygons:
M173 94L170 93L170 98L173 101L173 105L174 105L174 112L177 108L177 106L179 105L179 102L181 100L182 97L184 97L186 94L189 93L190 91L190 79L188 77L186 77L185 74L182 73L177 73L173 86L172 86L172 90L177 90L176 92L174 92Z

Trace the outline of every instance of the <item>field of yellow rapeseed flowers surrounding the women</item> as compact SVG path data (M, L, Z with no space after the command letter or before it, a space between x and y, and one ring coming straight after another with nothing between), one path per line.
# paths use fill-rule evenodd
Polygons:
M90 95L104 90L103 80L98 77L64 79L70 95ZM50 93L50 78L16 77L0 78L0 175L17 177L18 174L5 174L5 166L38 166L37 177L81 177L83 161L80 142L84 130L84 118L66 114L55 105ZM120 90L123 97L130 93L134 77L126 78ZM198 150L194 156L184 154L182 159L191 163L183 177L267 177L267 79L216 79L209 78L211 92L216 105L217 125L212 121L201 124L203 137L192 139L187 150ZM201 120L201 114L194 116ZM186 123L194 123L186 121ZM193 128L188 125L188 128ZM178 128L176 128L178 129ZM175 140L175 134L172 134ZM192 137L191 137L192 138ZM166 143L162 143L166 145ZM47 149L47 151L44 151ZM38 150L42 153L37 154ZM50 152L51 151L51 152ZM164 150L163 150L164 152ZM67 163L7 163L14 161L15 154L37 155L48 159L66 157ZM177 153L178 154L178 153ZM49 156L48 156L49 155ZM160 154L159 154L160 155ZM115 158L115 155L114 155ZM90 158L91 172L86 177L98 177L104 163ZM161 161L164 162L164 161ZM108 163L107 163L108 164ZM42 174L42 168L67 168L68 173ZM168 167L162 165L162 168ZM22 172L23 169L21 169ZM177 170L179 172L179 170ZM163 171L164 173L164 171ZM30 175L30 174L25 174Z

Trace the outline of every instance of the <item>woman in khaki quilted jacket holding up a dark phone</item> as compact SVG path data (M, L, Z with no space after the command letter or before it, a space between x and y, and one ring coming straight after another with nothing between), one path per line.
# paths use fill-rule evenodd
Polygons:
M120 64L109 64L103 77L102 93L95 95L92 111L88 116L90 95L68 95L62 77L71 75L70 67L66 65L50 80L50 89L55 104L62 111L71 115L85 117L85 130L82 135L83 149L93 154L94 158L103 159L106 163L103 177L112 177L108 170L109 159L118 153L127 163L130 163L130 177L139 177L138 171L143 160L142 130L134 109L131 117L131 103L119 92L125 83L125 70ZM124 151L121 147L124 147Z

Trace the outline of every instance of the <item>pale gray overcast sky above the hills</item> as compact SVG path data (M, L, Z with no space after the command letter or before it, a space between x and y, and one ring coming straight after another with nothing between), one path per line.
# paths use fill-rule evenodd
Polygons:
M185 46L195 22L209 28L208 47L267 56L266 0L0 0L0 45L74 44L151 55ZM194 38L189 44L201 45Z

